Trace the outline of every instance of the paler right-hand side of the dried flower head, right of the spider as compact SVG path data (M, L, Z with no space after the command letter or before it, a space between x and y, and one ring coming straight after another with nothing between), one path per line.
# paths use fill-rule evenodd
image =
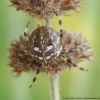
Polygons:
M76 62L82 59L90 59L92 57L92 50L86 38L82 34L67 33L64 37L63 45L67 56L72 57Z

